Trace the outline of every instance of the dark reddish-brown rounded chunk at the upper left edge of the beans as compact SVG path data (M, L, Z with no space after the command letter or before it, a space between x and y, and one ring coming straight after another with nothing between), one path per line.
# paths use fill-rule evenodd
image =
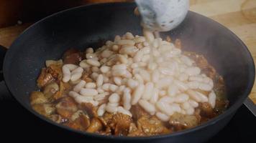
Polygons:
M77 49L68 49L63 54L64 64L79 64L82 59L82 54Z

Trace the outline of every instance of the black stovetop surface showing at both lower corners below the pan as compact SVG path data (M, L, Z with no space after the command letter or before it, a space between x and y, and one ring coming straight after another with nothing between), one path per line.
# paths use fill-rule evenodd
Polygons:
M3 88L4 82L0 82L0 94L8 95ZM73 134L42 121L28 112L15 99L0 99L0 139L6 138L6 142L19 141L33 142L53 141L58 142L93 142L85 140L81 135ZM227 127L221 130L209 142L252 142L256 129L256 117L242 105L234 115ZM4 134L3 134L4 133Z

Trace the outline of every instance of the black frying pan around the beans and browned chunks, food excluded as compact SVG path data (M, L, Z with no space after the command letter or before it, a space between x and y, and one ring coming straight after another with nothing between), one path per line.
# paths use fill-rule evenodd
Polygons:
M255 66L247 47L224 26L188 12L183 23L162 33L179 38L183 50L204 54L224 77L230 105L226 112L193 129L155 137L114 137L79 132L42 117L29 105L29 93L37 89L36 79L46 59L60 59L67 49L102 46L102 41L131 31L142 34L133 3L80 6L48 16L24 31L9 47L4 58L4 81L12 96L29 112L50 124L68 129L96 142L205 142L219 132L242 105L255 80Z

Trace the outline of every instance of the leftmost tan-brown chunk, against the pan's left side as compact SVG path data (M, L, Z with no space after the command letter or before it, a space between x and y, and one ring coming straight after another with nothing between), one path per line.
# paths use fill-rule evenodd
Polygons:
M32 92L30 94L30 104L43 104L46 102L48 100L42 92Z

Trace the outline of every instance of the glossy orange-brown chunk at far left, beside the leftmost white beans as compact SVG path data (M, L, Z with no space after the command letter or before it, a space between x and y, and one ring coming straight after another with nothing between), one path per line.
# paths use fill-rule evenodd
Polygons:
M37 86L41 89L45 87L50 82L55 80L60 81L62 79L61 67L55 64L47 66L47 68L42 68L41 74L37 79Z

